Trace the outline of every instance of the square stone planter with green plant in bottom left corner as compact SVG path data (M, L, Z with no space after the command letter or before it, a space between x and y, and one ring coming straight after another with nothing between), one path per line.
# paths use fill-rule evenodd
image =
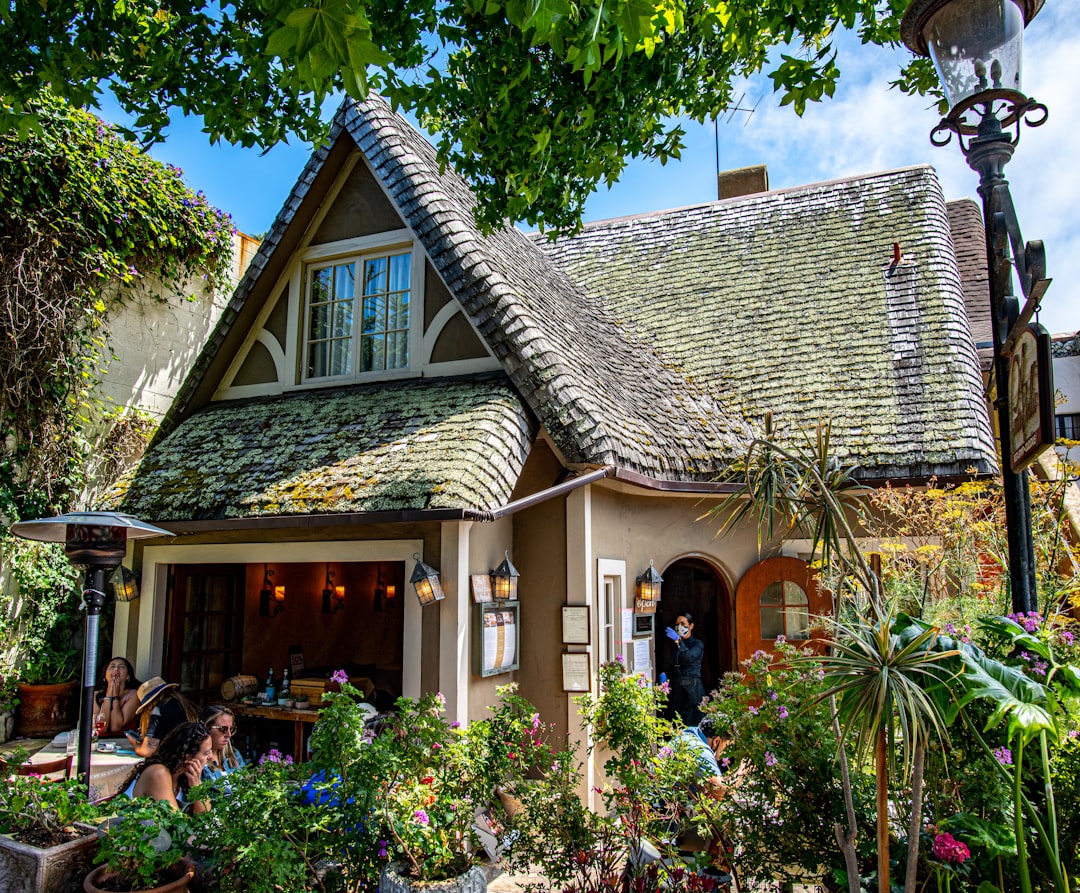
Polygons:
M19 763L25 750L8 756ZM15 775L0 784L0 890L75 893L97 852L98 810L75 779Z

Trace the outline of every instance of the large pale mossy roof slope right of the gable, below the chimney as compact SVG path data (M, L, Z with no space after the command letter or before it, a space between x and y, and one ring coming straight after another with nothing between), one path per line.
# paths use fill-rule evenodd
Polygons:
M772 410L800 425L831 418L835 455L863 476L995 468L930 167L607 220L536 242L745 417Z

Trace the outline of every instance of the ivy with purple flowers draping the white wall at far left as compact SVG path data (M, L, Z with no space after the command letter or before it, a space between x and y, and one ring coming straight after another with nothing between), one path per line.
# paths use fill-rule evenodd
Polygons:
M229 216L181 171L55 96L35 106L40 127L0 136L0 702L15 667L63 676L79 623L63 547L9 525L71 510L147 433L94 400L109 314L135 295L225 285L232 252Z

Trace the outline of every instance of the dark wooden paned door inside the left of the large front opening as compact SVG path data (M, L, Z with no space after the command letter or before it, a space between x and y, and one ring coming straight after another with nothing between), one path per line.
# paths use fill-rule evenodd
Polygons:
M205 706L241 669L244 565L174 565L165 621L166 682Z

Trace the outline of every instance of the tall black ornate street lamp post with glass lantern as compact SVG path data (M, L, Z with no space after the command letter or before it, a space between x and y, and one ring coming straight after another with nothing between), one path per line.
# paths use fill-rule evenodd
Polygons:
M1047 120L1047 107L1021 92L1024 27L1042 3L1043 0L913 0L901 25L901 37L907 48L933 59L949 103L949 112L931 132L930 141L945 146L955 134L968 165L980 178L1014 611L1034 611L1037 603L1027 474L1011 463L1010 354L1020 332L1038 309L1050 280L1045 275L1042 242L1023 242L1003 172L1020 141L1021 123L1037 127ZM1025 297L1023 308L1013 295L1013 267ZM1018 411L1018 407L1012 410Z

